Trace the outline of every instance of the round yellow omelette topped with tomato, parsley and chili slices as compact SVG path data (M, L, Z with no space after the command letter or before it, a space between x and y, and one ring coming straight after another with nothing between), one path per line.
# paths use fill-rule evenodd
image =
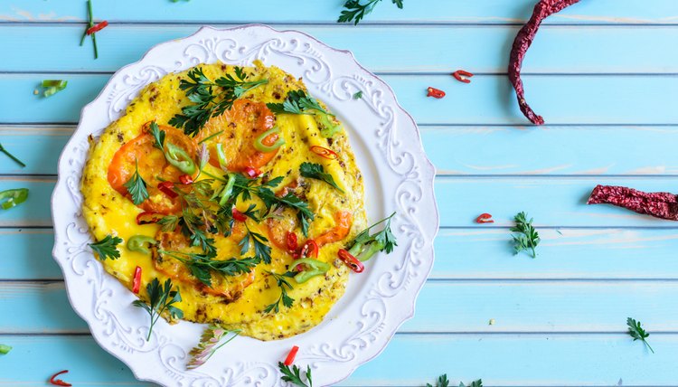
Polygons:
M147 85L90 138L81 192L94 239L119 241L113 256L95 250L103 268L141 302L170 279L182 313L165 319L260 340L323 320L352 271L338 252L366 227L341 122L259 61Z

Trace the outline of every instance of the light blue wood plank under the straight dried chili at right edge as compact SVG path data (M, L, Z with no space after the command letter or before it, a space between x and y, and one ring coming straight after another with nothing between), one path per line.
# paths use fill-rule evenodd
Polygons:
M27 204L2 213L0 226L49 226L53 178L0 178L0 190L27 187ZM605 204L585 205L596 184L627 185L648 192L675 192L674 177L439 177L436 197L442 227L486 227L474 220L483 212L494 215L494 226L510 227L517 212L528 212L537 227L655 227L678 223ZM500 201L497 198L501 197ZM547 200L544 200L546 198Z

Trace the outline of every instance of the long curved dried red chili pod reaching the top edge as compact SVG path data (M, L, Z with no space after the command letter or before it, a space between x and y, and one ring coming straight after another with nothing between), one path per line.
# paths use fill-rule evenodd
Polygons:
M511 57L509 59L508 76L515 89L515 94L518 97L518 105L521 111L532 124L543 125L544 118L537 115L525 100L525 90L523 89L523 80L521 80L521 69L523 68L523 59L525 53L532 45L534 36L539 31L541 21L560 12L563 8L579 3L579 0L541 0L537 5L534 5L534 11L530 20L523 25L523 28L515 36L513 41L513 48L511 49Z

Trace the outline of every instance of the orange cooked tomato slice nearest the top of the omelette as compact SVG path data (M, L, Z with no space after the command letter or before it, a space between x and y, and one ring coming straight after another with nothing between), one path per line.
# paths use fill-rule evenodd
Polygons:
M226 156L227 167L233 172L243 172L245 168L261 168L276 156L278 149L263 153L254 147L259 136L275 125L276 116L263 102L250 99L236 99L233 107L221 116L211 118L196 136L196 141L213 137L209 142L210 164L219 166L215 144L221 144ZM278 134L272 134L262 140L265 146L272 146L278 141Z

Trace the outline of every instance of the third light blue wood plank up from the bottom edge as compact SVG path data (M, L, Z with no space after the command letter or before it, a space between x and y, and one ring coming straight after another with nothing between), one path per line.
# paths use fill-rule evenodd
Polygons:
M675 230L548 229L540 236L543 259L525 260L513 258L506 229L443 229L430 278L678 278ZM0 279L61 278L52 260L52 230L7 229L0 239L8 257L0 260Z

